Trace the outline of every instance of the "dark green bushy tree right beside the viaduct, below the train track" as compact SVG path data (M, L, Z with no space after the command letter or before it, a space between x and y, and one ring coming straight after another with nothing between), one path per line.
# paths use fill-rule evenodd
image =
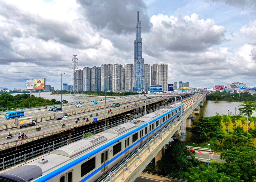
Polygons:
M177 139L169 142L166 145L164 156L160 161L157 161L159 174L182 179L185 172L189 171L189 167L193 166L193 163L195 165L199 163L194 156L193 162L189 161L186 156L191 156L191 153L187 151L183 142Z

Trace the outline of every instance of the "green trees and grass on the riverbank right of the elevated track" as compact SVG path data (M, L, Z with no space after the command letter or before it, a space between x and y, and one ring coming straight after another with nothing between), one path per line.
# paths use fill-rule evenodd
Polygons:
M255 111L255 102L244 102L241 108L246 108L248 104L252 104L250 109ZM194 146L204 148L208 148L210 143L211 147L215 146L215 152L221 153L221 159L226 163L211 161L208 168L208 164L200 163L193 154L192 159L187 159L186 156L191 156L185 147L187 143L175 139L168 143L164 156L157 161L156 167L153 161L144 171L188 182L255 182L255 122L256 117L251 115L248 116L248 120L247 115L220 116L218 113L212 117L200 117L190 129L195 138L191 142L197 142L199 145Z

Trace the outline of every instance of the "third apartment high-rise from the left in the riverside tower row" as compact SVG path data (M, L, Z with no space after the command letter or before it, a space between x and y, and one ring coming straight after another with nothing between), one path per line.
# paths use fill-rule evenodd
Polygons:
M92 91L101 91L101 67L92 67Z

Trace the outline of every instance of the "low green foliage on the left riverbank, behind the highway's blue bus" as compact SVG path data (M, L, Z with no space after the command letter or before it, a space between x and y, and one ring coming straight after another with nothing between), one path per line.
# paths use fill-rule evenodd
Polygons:
M60 104L56 99L43 99L35 97L34 95L29 98L29 94L11 95L7 93L0 94L0 110L14 110L16 108L29 108Z

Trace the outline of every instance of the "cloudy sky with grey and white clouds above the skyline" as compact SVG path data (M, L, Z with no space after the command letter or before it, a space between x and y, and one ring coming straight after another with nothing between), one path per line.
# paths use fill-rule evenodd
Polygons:
M169 83L256 86L255 0L1 0L0 87L78 69L132 63L137 11L145 64L169 65Z

